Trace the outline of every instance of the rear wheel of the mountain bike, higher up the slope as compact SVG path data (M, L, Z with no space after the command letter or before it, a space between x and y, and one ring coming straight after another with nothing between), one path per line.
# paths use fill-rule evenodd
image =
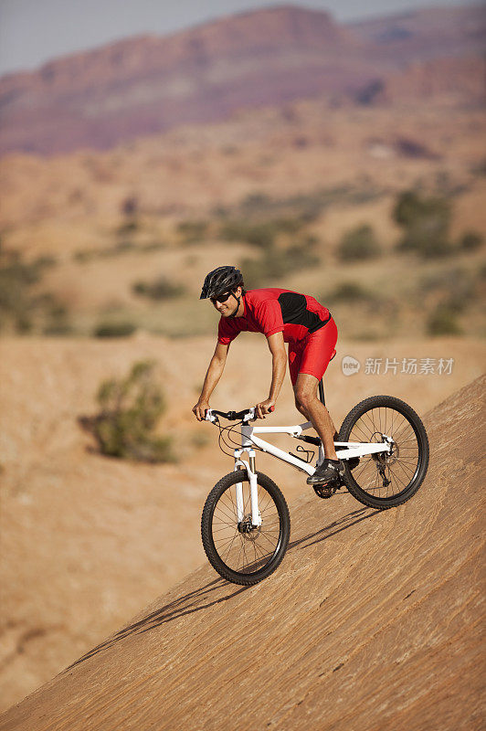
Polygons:
M395 507L417 493L428 470L428 437L413 408L393 396L365 398L344 418L339 441L394 440L391 454L361 457L344 481L356 500L379 510Z

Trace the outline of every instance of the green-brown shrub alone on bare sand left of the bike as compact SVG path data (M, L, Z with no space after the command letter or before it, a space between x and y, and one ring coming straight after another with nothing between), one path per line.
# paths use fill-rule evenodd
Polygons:
M101 454L123 460L174 461L171 440L153 435L164 413L164 394L153 376L153 361L132 365L128 376L103 381L100 412L79 422L96 439Z

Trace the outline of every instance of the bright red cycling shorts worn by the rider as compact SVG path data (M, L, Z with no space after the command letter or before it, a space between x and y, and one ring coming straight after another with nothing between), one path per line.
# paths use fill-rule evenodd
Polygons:
M295 386L300 373L308 373L320 381L333 357L336 343L337 327L333 318L298 343L289 343L292 386Z

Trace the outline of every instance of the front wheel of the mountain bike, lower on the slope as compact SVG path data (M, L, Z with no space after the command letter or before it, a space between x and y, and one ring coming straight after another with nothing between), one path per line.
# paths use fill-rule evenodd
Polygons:
M257 584L275 571L291 535L289 508L279 488L262 472L257 472L257 482L261 525L253 526L251 521L245 470L230 472L217 482L207 496L201 519L209 563L221 577L243 586Z

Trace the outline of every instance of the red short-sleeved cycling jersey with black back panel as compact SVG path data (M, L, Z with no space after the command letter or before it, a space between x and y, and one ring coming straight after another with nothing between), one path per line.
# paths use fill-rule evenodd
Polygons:
M309 294L269 288L249 290L243 297L242 317L221 317L218 343L227 345L242 331L266 337L283 333L285 343L298 343L331 320L327 307Z

